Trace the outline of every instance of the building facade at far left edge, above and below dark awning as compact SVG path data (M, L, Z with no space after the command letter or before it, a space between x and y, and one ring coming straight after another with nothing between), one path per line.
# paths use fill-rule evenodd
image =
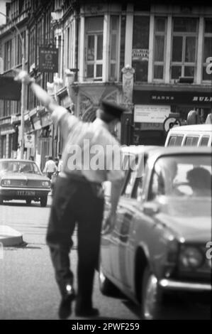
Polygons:
M30 2L1 1L0 13L0 75L13 76L13 69L21 69L22 50L28 59L27 20ZM14 24L18 28L14 28ZM23 48L22 48L23 43ZM21 102L0 99L0 157L17 155L18 134L21 133Z

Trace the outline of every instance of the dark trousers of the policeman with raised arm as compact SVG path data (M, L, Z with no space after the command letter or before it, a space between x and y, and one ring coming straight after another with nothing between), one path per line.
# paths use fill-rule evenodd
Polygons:
M92 307L94 271L99 259L104 198L94 183L57 178L47 232L52 264L61 294L73 283L69 251L77 223L77 308Z

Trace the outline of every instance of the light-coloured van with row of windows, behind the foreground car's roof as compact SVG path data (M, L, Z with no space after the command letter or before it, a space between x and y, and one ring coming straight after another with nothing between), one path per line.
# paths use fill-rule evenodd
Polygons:
M175 126L169 130L165 146L212 146L212 124Z

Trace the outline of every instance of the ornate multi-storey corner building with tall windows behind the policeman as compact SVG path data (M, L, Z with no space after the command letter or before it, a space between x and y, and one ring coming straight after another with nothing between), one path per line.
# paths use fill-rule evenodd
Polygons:
M86 122L95 119L100 99L123 104L127 112L118 129L122 144L163 145L163 123L170 114L186 124L191 109L201 122L211 112L212 78L206 68L212 57L212 5L204 1L16 0L7 6L9 15L16 3L21 20L16 22L26 34L26 66L36 82ZM18 62L18 55L12 57L10 43L15 42L10 40L15 36L9 33L9 23L0 27L0 38L7 73ZM57 49L57 70L40 69L42 48ZM43 166L48 154L62 151L60 131L31 92L27 103L26 133L33 134L35 144L26 155L33 154ZM9 131L14 129L8 126L11 115L16 114L12 119L18 122L20 102L0 105L0 154L9 156Z

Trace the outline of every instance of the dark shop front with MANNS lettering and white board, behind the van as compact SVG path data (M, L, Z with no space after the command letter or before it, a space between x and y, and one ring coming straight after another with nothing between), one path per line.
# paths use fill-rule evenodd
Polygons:
M164 145L166 132L164 120L176 114L181 124L186 124L191 110L196 110L201 123L211 112L210 87L135 87L133 90L133 136L131 144Z

